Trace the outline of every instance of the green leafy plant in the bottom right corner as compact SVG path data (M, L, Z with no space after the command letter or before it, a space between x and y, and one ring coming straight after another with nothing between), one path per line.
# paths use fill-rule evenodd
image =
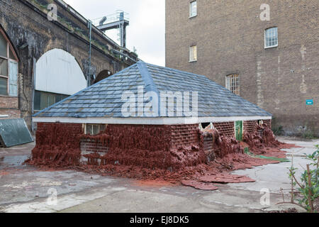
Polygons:
M318 172L319 172L319 145L315 145L315 152L311 155L306 155L306 160L310 160L310 164L301 175L301 179L296 179L296 167L293 164L289 168L289 179L291 180L291 201L283 202L296 204L303 207L309 213L314 213L315 209L313 202L319 197L319 184L318 184ZM293 162L292 162L293 163ZM312 167L312 168L310 168ZM300 198L294 196L295 187L298 185L297 192L300 193ZM297 202L296 202L297 201ZM279 203L282 204L282 203Z

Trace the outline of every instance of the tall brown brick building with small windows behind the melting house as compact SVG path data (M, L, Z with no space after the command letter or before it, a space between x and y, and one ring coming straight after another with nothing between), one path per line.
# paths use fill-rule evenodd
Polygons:
M166 66L205 74L319 136L319 1L166 0Z

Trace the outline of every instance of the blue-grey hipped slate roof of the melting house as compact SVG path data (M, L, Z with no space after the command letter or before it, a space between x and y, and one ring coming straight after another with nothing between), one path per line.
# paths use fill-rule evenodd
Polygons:
M203 75L138 62L38 112L38 117L122 118L123 92L198 92L198 117L272 116ZM190 97L191 102L191 97ZM175 114L176 116L176 114ZM183 115L184 116L184 115Z

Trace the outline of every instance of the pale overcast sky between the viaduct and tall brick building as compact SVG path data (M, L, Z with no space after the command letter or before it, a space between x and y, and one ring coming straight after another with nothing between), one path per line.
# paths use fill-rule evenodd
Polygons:
M165 65L165 1L164 0L64 0L87 19L101 18L117 10L129 13L126 47L136 48L145 62ZM108 33L116 40L116 31Z

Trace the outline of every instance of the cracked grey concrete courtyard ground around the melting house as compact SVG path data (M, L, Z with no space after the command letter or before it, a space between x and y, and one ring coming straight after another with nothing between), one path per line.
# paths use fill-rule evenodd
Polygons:
M313 153L319 140L301 141L279 138L300 145L288 158L298 174L308 163L303 153ZM42 171L22 165L30 157L34 143L0 148L0 212L267 212L296 208L282 201L284 189L289 201L287 175L291 162L237 170L237 175L256 179L253 183L216 184L216 191L201 191L172 184L145 184L136 179L103 177L73 170ZM302 167L301 167L302 166ZM268 189L269 204L261 204ZM52 201L55 198L56 204Z

